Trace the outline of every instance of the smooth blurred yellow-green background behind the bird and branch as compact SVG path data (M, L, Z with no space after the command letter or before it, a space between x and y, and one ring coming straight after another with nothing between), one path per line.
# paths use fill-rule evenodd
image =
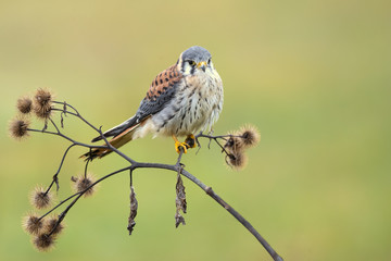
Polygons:
M225 87L215 133L262 134L241 172L216 146L186 154L189 172L247 217L286 260L390 260L391 2L0 2L0 252L2 260L270 260L222 207L185 181L187 225L174 226L175 174L138 170L139 212L127 235L128 175L68 213L56 248L37 252L21 228L28 194L48 185L68 142L11 140L15 101L38 87L109 128L138 108L153 77L193 45L207 48ZM35 123L40 127L41 123ZM71 136L94 133L66 119ZM171 138L123 148L174 163ZM84 164L71 151L59 198ZM125 166L93 162L97 176Z

